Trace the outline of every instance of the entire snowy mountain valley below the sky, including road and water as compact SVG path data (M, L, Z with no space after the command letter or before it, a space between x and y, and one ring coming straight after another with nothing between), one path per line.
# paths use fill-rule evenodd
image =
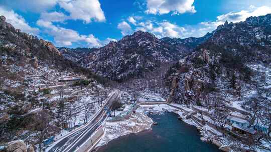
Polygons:
M139 30L68 48L0 16L0 151L267 152L270 24L266 14L197 38Z

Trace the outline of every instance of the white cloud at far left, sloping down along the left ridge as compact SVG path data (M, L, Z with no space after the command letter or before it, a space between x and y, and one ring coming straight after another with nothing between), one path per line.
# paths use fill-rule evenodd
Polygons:
M0 6L0 14L6 17L7 22L11 23L15 28L21 29L23 32L30 34L39 33L39 28L31 27L22 16L13 10L7 10Z

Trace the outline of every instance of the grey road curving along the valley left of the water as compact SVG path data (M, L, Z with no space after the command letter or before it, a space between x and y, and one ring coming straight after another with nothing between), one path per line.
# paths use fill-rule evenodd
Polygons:
M108 97L102 109L96 114L96 117L86 124L87 126L62 138L58 143L51 147L48 152L76 151L76 149L80 147L105 120L106 112L104 111L104 108L109 108L109 105L117 97L118 93L119 91L117 90Z

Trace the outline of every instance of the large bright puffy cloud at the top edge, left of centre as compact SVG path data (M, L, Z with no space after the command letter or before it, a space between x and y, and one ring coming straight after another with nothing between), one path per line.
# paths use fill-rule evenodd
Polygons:
M99 0L60 0L59 5L70 13L71 19L82 19L86 23L105 21Z

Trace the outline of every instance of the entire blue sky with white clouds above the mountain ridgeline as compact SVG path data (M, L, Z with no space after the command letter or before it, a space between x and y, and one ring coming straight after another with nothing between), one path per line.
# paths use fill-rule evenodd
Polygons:
M200 37L271 13L270 0L0 0L0 15L56 46L101 47L134 31Z

